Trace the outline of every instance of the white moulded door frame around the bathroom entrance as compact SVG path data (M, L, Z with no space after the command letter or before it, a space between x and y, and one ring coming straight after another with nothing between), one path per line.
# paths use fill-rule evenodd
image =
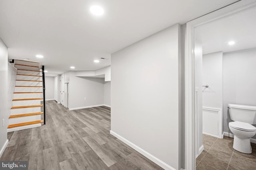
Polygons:
M196 169L195 134L195 69L194 69L194 45L195 28L222 18L231 16L238 12L256 7L255 0L241 0L230 6L192 20L186 24L185 44L185 169Z

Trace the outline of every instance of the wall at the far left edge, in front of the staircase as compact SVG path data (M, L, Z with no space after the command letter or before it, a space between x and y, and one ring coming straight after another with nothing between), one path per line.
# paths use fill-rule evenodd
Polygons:
M4 41L0 38L0 156L8 144L7 125L9 117L9 108L7 102L8 93L8 49Z

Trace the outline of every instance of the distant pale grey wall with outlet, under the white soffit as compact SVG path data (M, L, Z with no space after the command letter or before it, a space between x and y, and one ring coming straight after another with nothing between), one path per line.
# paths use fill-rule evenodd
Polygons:
M69 72L69 109L81 109L104 104L103 78L80 78Z

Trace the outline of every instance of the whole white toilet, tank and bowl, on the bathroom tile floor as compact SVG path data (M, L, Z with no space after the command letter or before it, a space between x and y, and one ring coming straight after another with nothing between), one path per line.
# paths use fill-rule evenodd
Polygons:
M234 134L233 148L239 152L250 154L252 147L250 138L256 134L256 106L228 104L230 131Z

